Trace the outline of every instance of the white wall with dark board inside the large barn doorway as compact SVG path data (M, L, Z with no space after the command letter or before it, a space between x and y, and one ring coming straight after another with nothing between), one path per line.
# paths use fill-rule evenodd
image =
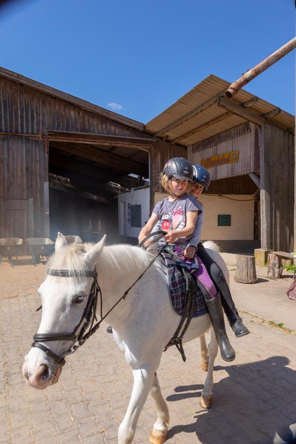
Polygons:
M118 227L119 235L135 237L139 236L142 227L127 227L128 204L141 205L142 226L149 219L149 196L150 187L134 188L134 196L132 191L128 193L118 194ZM123 210L124 209L124 210Z

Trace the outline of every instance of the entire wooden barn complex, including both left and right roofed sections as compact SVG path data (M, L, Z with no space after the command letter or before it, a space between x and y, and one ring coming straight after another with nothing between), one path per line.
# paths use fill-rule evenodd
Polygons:
M144 125L0 68L0 238L114 242L118 194L149 183L151 209L164 163L184 156L212 176L203 239L292 251L294 116L228 86L210 75Z

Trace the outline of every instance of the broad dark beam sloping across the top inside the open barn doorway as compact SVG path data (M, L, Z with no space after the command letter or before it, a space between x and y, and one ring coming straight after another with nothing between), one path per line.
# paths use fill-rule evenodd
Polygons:
M72 144L72 143L60 143L51 142L50 146L62 149L63 151L76 154L77 156L84 157L95 162L112 165L119 170L123 170L129 173L135 173L141 176L148 176L148 166L135 162L124 157L111 154L108 151L104 151L99 148L92 147L86 144Z

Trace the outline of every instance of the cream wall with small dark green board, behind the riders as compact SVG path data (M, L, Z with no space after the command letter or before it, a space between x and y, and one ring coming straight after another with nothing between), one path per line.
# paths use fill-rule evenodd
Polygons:
M155 193L154 204L167 194ZM235 199L235 200L232 200ZM229 194L226 197L203 194L199 198L204 205L202 239L253 240L254 197L248 194ZM230 226L218 226L218 215L230 214Z

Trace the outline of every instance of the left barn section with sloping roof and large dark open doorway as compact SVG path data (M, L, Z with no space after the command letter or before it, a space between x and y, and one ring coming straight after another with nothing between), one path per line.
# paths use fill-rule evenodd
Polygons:
M0 104L0 238L114 242L118 193L185 155L140 122L3 68Z

